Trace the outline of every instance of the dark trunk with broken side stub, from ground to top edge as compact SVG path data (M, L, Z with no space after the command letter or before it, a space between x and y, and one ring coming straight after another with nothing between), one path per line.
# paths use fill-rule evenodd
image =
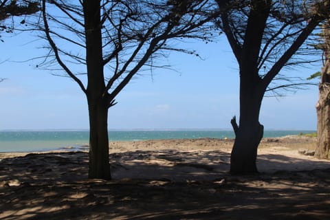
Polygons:
M230 157L230 173L258 173L256 155L263 137L263 126L259 123L259 112L265 83L259 76L259 54L263 43L267 18L270 14L272 1L251 1L243 45L232 45L239 62L239 126ZM226 33L228 36L228 32ZM232 39L229 33L229 39ZM233 123L232 123L233 124Z

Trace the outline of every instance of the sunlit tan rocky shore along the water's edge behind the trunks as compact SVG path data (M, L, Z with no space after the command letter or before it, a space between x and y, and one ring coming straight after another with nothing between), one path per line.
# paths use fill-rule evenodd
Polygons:
M294 140L294 141L290 141ZM302 141L304 140L304 141ZM285 135L281 137L263 137L259 148L269 145L270 142L283 142L283 144L289 144L289 147L294 147L296 144L303 144L301 148L308 148L310 150L314 149L314 146L311 145L314 142L316 143L316 138L307 137L305 135ZM267 144L268 143L268 144ZM23 144L23 143L21 143ZM40 144L40 143L39 143ZM120 151L132 151L133 149L140 150L151 150L159 148L190 148L197 149L198 147L207 149L207 148L231 148L234 144L234 138L214 138L214 137L197 137L197 138L165 138L165 139L150 139L150 140L109 140L109 153L111 152L120 152ZM189 146L188 146L189 145ZM175 146L175 147L174 147ZM71 152L71 151L88 151L88 144L64 144L63 146L54 147L54 148L37 148L38 150L21 150L21 151L0 151L1 154L5 153L47 153L47 152ZM1 158L1 157L0 157Z

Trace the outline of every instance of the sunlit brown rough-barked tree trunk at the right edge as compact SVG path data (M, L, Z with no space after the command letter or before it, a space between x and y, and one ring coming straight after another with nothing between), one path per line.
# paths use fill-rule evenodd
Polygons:
M316 104L318 144L315 156L330 159L330 19L322 25L322 30L321 36L325 41L322 43L324 63L322 72L318 74L320 75L319 99Z

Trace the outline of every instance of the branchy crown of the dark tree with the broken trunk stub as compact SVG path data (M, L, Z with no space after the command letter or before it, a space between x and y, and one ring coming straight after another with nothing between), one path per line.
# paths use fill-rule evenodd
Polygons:
M250 50L252 47L243 48L250 44L247 37L255 36L254 32L257 31L252 27L254 24L248 21L252 21L250 10L258 1L217 2L222 8L227 8L218 25L226 34L237 61L240 65L244 61L256 63L255 70L264 79L266 91L281 95L278 89L297 89L300 85L310 84L299 76L283 75L281 70L320 61L320 51L313 46L318 42L318 36L311 33L305 36L309 30L314 32L318 28L316 24L329 16L327 1L267 1L265 5L269 8L265 27L260 30L260 45L252 45L253 50ZM252 56L256 54L253 56L256 60L248 60L252 56L246 52ZM311 54L316 56L309 56Z

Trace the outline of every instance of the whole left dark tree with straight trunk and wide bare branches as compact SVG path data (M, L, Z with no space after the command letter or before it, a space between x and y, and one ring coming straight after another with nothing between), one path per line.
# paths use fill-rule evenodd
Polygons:
M156 61L168 52L195 54L171 43L209 39L214 8L207 0L43 1L39 29L50 52L41 65L64 70L87 97L89 178L111 179L107 121L115 97L140 72L164 67Z

